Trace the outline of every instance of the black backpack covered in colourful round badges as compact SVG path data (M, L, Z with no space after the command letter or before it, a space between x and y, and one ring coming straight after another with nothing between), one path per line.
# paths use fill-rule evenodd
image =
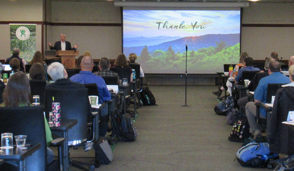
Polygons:
M246 116L239 118L237 122L233 125L233 129L230 133L229 141L233 142L243 142L245 138L250 137L249 123Z

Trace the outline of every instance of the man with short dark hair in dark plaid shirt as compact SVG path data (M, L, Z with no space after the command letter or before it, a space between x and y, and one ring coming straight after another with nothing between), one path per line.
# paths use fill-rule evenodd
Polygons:
M99 71L93 74L101 77L117 77L119 81L118 74L116 72L110 71L110 62L107 58L101 58L98 65Z

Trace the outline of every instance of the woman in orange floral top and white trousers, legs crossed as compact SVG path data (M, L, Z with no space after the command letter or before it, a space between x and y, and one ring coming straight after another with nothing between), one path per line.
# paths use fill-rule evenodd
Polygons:
M236 65L235 65L233 71L232 71L231 74L230 74L230 77L231 77L231 78L235 78L235 77L236 77L236 75L238 74L239 69L240 69L241 67L243 67L243 65L244 65L244 59L245 59L246 57L248 57L247 52L242 52L242 53L240 54L239 64L236 64ZM231 88L231 87L232 87L232 83L231 83L229 80L227 80L227 83L226 83L226 84L223 84L223 86L220 87L220 89L219 89L218 91L216 91L216 92L212 92L212 94L216 95L217 97L220 97L221 93L222 93L225 89L228 89L228 92L229 92L230 94L232 94L232 90L229 89L229 88Z

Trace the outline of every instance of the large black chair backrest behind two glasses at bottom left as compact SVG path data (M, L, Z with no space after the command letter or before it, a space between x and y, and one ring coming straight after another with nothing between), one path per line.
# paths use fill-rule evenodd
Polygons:
M26 144L41 143L41 148L26 158L26 170L46 170L47 145L43 111L42 106L0 107L0 133L27 135ZM15 142L14 137L13 139Z

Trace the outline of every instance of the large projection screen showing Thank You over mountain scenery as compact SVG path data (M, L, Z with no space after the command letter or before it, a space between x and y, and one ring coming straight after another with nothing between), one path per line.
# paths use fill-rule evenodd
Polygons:
M187 45L187 52L186 52ZM240 55L240 8L123 8L123 53L136 53L145 73L214 74Z

